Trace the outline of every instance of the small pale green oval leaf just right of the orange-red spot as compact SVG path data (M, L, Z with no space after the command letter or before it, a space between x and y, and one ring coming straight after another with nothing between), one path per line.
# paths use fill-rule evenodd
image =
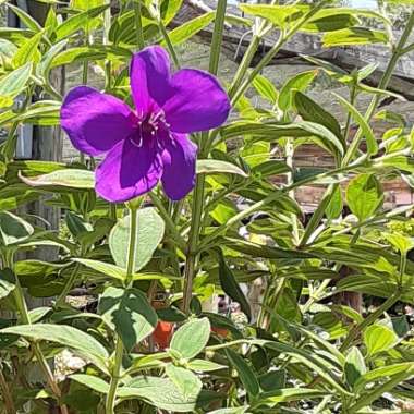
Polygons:
M193 358L206 346L210 338L210 322L207 318L193 319L174 333L170 348L184 358Z

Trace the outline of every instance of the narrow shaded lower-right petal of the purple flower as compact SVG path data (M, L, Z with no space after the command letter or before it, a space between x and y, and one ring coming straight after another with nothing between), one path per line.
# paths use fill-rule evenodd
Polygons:
M169 198L178 200L194 187L197 146L184 134L172 134L172 139L165 139L163 145L163 190Z

